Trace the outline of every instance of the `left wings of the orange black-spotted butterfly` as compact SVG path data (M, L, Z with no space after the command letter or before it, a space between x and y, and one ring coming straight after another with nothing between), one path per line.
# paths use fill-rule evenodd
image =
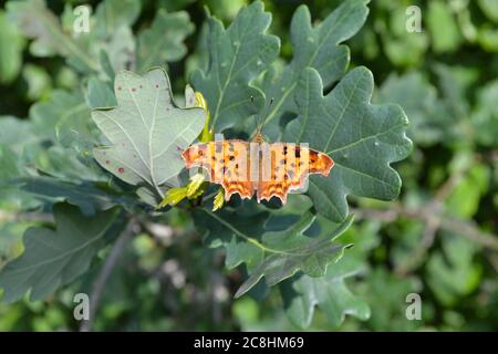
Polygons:
M250 144L243 140L220 140L196 144L181 154L187 168L203 167L209 173L211 183L225 189L225 200L239 194L252 198L255 185L250 176Z

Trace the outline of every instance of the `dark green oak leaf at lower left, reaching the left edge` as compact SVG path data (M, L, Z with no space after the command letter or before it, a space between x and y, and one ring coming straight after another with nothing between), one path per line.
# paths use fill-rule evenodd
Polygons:
M116 210L85 218L76 208L63 205L55 206L53 212L58 229L28 229L24 252L2 270L3 301L19 300L28 290L32 301L44 299L85 272L116 218Z

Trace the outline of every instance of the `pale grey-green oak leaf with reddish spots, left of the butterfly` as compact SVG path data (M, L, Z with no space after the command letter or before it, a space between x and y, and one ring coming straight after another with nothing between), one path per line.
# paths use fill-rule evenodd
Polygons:
M143 77L123 72L114 83L118 106L93 111L92 118L111 147L93 150L98 164L122 180L145 184L163 197L160 187L174 185L184 167L184 150L200 133L206 112L179 108L173 102L169 80L162 69Z

